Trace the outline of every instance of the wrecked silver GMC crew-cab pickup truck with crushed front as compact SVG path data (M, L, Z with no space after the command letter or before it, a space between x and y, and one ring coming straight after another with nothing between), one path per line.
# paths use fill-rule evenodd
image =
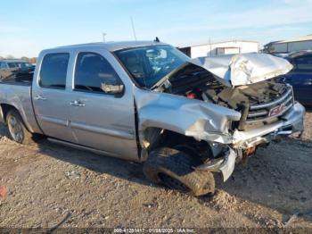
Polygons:
M144 163L148 179L201 196L216 173L226 181L259 146L303 130L288 71L268 54L191 60L159 41L56 47L0 80L0 119L21 144L45 135Z

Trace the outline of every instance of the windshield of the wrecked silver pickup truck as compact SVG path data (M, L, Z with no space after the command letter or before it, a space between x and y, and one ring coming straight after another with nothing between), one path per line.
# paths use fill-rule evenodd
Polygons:
M173 46L144 46L115 54L143 88L152 88L161 78L190 60Z

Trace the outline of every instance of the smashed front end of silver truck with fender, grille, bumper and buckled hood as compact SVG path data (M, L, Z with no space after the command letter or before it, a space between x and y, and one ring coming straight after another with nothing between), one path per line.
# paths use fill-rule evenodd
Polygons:
M205 141L212 157L196 170L220 171L227 180L258 146L303 130L305 109L281 79L291 68L269 54L198 58L172 72L157 92L135 88L143 152L151 145L149 128Z

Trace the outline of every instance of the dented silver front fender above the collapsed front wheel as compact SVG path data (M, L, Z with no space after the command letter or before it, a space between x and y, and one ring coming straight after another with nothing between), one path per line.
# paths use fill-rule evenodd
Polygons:
M229 144L232 142L229 121L241 118L241 113L217 104L138 88L135 88L135 104L141 141L144 130L153 127L197 140Z

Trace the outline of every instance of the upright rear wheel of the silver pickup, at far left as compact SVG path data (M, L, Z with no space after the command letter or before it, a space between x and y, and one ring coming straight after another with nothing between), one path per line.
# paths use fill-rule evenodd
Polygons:
M10 138L17 143L30 145L34 143L33 136L25 127L21 119L20 113L16 110L11 110L6 115L6 123L8 126Z

